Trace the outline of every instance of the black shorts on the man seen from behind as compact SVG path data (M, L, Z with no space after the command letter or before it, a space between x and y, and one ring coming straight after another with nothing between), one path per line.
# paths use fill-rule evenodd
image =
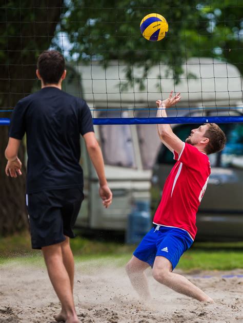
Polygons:
M33 249L74 238L72 229L84 199L82 187L46 190L26 195Z

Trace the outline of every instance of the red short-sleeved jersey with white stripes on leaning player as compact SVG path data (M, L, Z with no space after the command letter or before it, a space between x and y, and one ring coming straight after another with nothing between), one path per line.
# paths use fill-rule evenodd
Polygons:
M210 170L205 153L186 143L168 176L161 201L154 215L154 224L186 230L194 240L196 212L207 187Z

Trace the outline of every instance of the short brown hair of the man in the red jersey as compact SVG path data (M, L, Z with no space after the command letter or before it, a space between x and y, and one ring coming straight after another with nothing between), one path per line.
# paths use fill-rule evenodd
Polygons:
M225 148L226 136L216 123L205 123L208 125L204 137L209 138L209 143L205 147L207 155L220 152Z

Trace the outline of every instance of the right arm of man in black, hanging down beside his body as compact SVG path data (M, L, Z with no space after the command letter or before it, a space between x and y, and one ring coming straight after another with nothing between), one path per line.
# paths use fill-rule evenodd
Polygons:
M107 184L105 176L105 166L102 151L93 132L84 135L89 157L94 165L99 179L99 195L102 198L103 205L109 207L112 202L112 192Z

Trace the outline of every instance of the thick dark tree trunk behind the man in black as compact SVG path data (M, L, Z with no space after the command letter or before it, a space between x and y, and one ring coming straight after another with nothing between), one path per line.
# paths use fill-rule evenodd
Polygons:
M1 110L15 106L19 99L31 93L34 86L39 88L40 84L35 76L36 58L51 45L63 12L62 4L62 0L14 0L7 2L8 8L1 9L1 21L11 21L4 27L1 24L0 31L5 36L3 55L0 56ZM10 116L11 113L8 112L0 115ZM23 175L16 179L7 177L4 151L8 143L8 130L8 126L0 126L0 235L28 228L25 206L25 144L22 141L18 154L23 164Z

